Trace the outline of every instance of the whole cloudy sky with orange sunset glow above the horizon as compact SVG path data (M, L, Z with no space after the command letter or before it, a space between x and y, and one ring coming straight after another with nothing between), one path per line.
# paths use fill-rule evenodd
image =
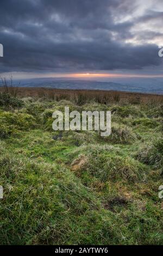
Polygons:
M0 75L163 77L162 0L1 0Z

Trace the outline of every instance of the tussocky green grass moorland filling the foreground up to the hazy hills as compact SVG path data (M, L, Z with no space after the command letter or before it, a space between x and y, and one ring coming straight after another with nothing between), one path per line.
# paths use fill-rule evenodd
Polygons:
M0 94L0 243L162 245L162 96L16 94ZM54 132L65 106L110 110L111 135Z

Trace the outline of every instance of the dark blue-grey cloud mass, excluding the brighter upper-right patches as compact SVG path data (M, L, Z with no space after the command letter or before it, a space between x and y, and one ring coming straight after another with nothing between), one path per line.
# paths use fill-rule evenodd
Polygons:
M136 21L115 22L115 13L125 15L135 8L128 0L1 0L0 72L158 66L156 45L126 44L134 37L130 29ZM160 17L151 12L141 17L142 22L154 16ZM146 33L144 38L158 35Z

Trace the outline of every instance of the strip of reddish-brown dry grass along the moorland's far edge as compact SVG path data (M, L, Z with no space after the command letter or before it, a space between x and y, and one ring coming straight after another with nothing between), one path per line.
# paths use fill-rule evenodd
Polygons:
M104 90L71 90L71 89L47 89L47 88L22 88L22 87L3 87L0 92L7 90L7 93L17 96L27 97L32 96L36 98L44 97L51 100L71 100L77 105L83 105L85 102L91 100L98 103L131 103L140 104L146 103L150 105L160 105L163 103L163 95L131 93L131 92L117 92Z

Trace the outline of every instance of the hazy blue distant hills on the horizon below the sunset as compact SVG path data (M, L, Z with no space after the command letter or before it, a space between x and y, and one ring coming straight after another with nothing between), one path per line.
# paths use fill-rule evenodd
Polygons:
M108 80L108 78L107 78ZM110 78L112 81L76 80L73 78L34 78L14 81L20 87L57 89L117 90L124 92L163 94L163 78Z

